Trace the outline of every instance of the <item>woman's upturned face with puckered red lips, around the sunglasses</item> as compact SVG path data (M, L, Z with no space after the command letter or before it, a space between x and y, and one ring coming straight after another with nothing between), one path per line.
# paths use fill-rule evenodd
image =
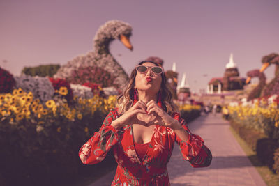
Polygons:
M143 63L142 65L148 67L156 66L155 64L149 62ZM151 68L148 68L148 70L144 73L137 72L137 75L135 76L135 88L137 88L138 91L158 93L161 82L162 76L156 75L154 72L152 72Z

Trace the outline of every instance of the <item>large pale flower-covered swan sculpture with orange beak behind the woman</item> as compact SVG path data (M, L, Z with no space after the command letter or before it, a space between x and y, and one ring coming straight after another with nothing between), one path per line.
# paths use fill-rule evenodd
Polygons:
M132 50L133 46L130 45L129 40L131 34L132 27L125 22L119 20L106 22L103 26L100 26L95 35L93 40L94 50L68 61L66 65L61 66L56 75L54 75L54 78L63 78L72 83L74 80L72 76L74 70L96 66L103 68L103 70L110 72L112 75L117 75L114 78L113 84L116 84L117 88L122 88L128 81L128 75L112 54L110 54L109 46L110 42L119 39L123 42L123 45Z

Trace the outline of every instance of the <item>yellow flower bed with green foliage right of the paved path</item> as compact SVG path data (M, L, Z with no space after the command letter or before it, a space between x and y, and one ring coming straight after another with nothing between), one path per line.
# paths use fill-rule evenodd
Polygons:
M231 105L232 127L255 150L261 162L279 175L279 96L257 98L246 104Z

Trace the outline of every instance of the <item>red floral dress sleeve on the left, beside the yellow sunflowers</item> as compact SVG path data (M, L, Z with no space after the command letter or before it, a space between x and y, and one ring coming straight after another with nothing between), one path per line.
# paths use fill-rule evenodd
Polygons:
M89 139L79 150L80 160L83 164L96 164L105 159L112 146L121 141L123 130L116 130L110 124L117 118L118 114L115 109L110 109L103 125L93 137Z

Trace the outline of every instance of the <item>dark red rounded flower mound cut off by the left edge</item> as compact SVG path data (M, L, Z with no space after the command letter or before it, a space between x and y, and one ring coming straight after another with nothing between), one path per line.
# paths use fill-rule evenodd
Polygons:
M7 70L0 68L0 93L9 93L15 86L13 75Z

